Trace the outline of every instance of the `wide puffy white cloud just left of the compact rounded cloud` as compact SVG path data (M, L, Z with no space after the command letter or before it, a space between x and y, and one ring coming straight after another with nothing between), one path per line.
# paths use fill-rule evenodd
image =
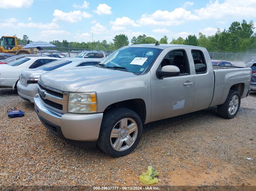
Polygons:
M52 19L53 22L58 21L65 21L68 23L76 23L78 21L81 21L82 18L91 18L92 15L88 12L81 12L81 11L70 11L68 13L65 13L63 11L60 11L58 9L54 10L53 16L55 16L54 19Z

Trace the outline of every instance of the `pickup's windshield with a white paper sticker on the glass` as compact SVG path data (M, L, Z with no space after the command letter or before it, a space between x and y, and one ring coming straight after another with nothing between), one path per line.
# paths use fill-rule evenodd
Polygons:
M100 64L105 64L110 69L124 69L124 71L142 74L151 68L151 65L161 51L162 49L145 47L121 48L108 56Z

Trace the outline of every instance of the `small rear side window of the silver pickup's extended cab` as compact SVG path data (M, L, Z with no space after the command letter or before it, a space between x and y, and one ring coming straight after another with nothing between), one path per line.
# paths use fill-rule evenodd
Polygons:
M194 65L195 65L195 73L196 74L204 74L207 72L207 65L205 62L204 54L201 50L191 50L191 54L193 56Z

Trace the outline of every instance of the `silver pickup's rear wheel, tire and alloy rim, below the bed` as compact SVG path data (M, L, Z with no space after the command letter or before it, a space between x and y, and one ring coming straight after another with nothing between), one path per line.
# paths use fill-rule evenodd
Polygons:
M230 90L226 101L218 105L218 115L227 119L232 119L238 113L241 97L238 91Z

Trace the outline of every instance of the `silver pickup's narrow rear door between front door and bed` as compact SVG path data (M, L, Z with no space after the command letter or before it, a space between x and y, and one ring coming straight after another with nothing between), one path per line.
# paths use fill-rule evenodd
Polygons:
M189 54L193 57L193 60L200 60L201 62L194 62L193 73L195 80L195 95L191 112L208 108L212 100L214 91L214 75L211 60L204 56L207 54L208 53L205 50L200 49L192 49Z

